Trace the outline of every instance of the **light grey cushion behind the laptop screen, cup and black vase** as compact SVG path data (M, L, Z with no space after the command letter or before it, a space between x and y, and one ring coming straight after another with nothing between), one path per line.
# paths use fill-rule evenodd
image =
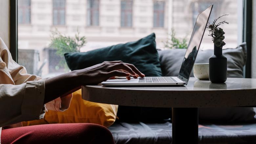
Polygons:
M186 49L168 49L158 51L160 65L163 76L178 76L181 63ZM201 50L198 52L195 63L209 63L209 58L213 55L213 50ZM243 67L246 63L246 43L237 48L223 50L223 55L227 57L227 77L243 78ZM191 76L194 77L193 71Z

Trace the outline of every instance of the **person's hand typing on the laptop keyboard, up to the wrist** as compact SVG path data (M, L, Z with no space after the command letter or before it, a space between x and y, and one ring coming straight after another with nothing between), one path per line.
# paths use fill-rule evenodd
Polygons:
M98 84L115 76L126 77L130 80L131 77L145 77L133 64L123 63L122 61L103 62L94 66L76 70L76 75L81 81L81 85Z

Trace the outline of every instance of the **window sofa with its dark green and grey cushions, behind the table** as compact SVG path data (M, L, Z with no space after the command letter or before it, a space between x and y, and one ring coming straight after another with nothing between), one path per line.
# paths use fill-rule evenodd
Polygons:
M82 53L66 53L64 56L71 70L104 61L123 61L134 64L148 77L178 76L186 49L157 50L155 38L156 35L152 33L138 41ZM195 63L208 63L212 55L212 49L200 50ZM223 55L227 57L227 77L243 78L246 44L224 49ZM255 114L252 107L199 108L199 143L256 143ZM114 121L108 128L117 144L172 142L171 108L119 105L117 115L113 115Z

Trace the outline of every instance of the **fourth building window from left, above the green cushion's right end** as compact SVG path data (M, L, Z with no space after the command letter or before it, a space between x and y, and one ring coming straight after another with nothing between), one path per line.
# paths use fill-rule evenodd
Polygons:
M121 0L121 27L132 27L133 0Z

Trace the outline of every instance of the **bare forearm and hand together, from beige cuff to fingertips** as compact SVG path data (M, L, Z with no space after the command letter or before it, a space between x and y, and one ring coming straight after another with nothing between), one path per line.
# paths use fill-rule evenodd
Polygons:
M98 84L115 76L130 75L134 77L144 77L134 65L121 61L103 62L81 70L75 70L45 81L45 99L47 103L60 96L78 90L81 85Z

